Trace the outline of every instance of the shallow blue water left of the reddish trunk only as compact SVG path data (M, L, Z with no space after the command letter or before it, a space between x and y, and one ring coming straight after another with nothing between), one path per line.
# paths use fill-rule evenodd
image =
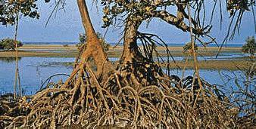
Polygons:
M70 74L72 66L48 66L52 62L73 62L73 58L22 57L19 60L20 84L25 94L33 94L39 90L42 81L55 74ZM15 61L0 59L0 91L13 92ZM67 76L52 78L53 81L66 79Z

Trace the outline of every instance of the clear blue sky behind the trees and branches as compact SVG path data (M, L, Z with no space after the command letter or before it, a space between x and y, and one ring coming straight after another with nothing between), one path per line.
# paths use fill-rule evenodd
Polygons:
M34 20L27 17L21 17L18 40L20 41L48 41L48 42L77 42L80 33L84 32L83 25L80 19L80 13L78 11L75 1L66 1L64 9L59 10L57 14L54 14L48 26L45 27L45 23L51 14L53 4L45 4L44 1L39 1L39 20ZM106 29L101 28L101 5L98 3L98 9L92 2L86 1L89 8L89 14L92 19L95 31L105 33ZM206 5L207 14L211 14L212 3ZM218 14L214 15L213 29L211 35L217 39L219 43L223 41L223 38L227 32L227 26L229 25L229 14L223 12L223 28L220 29L220 17ZM116 43L121 37L122 29L110 28L105 37L106 41ZM189 41L189 32L183 32L176 27L171 26L164 21L154 19L146 26L142 23L139 28L140 32L149 32L159 35L167 43L182 44ZM245 42L245 38L248 36L255 36L254 21L251 12L245 13L242 19L242 27L240 34L236 34L235 38L229 43ZM0 39L14 37L14 26L2 26L0 25Z

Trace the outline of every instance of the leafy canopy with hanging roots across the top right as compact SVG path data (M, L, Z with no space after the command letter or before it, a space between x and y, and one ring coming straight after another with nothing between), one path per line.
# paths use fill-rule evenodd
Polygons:
M255 0L212 0L212 2L213 13L216 4L219 3L220 7L226 4L226 10L229 11L230 16L238 14L238 21L233 20L237 24L240 23L241 18L239 17L242 17L243 12L248 11L250 6L255 6ZM188 8L191 7L193 33L204 35L211 29L211 25L204 23L206 15L204 0L101 0L101 4L104 6L103 27L108 27L111 24L123 26L122 24L126 21L140 23L143 20L150 21L151 18L156 17L178 29L189 31ZM176 12L174 12L175 10ZM237 29L236 26L234 26L235 29Z

